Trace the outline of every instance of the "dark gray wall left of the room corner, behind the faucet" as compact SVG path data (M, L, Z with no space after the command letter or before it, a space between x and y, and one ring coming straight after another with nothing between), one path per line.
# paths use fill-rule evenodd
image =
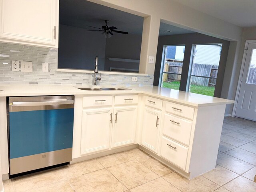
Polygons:
M58 68L94 70L98 56L99 70L104 70L105 47L101 32L60 24Z

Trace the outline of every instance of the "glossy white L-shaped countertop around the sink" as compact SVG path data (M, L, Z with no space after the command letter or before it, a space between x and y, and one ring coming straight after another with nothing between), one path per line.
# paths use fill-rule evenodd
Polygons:
M83 86L77 86L83 87ZM88 87L88 86L84 86ZM101 87L101 86L98 86ZM103 87L103 86L102 86ZM113 87L113 86L104 86ZM0 84L0 96L41 96L41 95L102 95L102 94L146 94L176 103L191 106L210 106L233 104L233 100L194 94L157 86L128 87L132 90L122 91L86 91L72 85L30 85L30 84Z

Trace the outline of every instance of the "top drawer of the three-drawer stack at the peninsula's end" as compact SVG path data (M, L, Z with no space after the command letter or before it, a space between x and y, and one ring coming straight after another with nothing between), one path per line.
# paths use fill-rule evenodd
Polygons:
M194 116L194 108L172 102L166 102L166 112L182 116L188 119L193 119Z

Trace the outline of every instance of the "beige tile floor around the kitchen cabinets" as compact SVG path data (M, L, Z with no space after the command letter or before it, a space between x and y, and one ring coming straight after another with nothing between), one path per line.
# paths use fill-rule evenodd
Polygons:
M5 192L256 192L256 122L226 117L216 168L188 180L133 149L4 181Z

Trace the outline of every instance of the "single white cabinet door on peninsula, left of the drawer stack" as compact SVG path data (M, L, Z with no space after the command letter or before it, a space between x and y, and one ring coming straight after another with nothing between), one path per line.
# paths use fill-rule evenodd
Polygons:
M142 128L142 145L157 153L161 111L145 107Z

